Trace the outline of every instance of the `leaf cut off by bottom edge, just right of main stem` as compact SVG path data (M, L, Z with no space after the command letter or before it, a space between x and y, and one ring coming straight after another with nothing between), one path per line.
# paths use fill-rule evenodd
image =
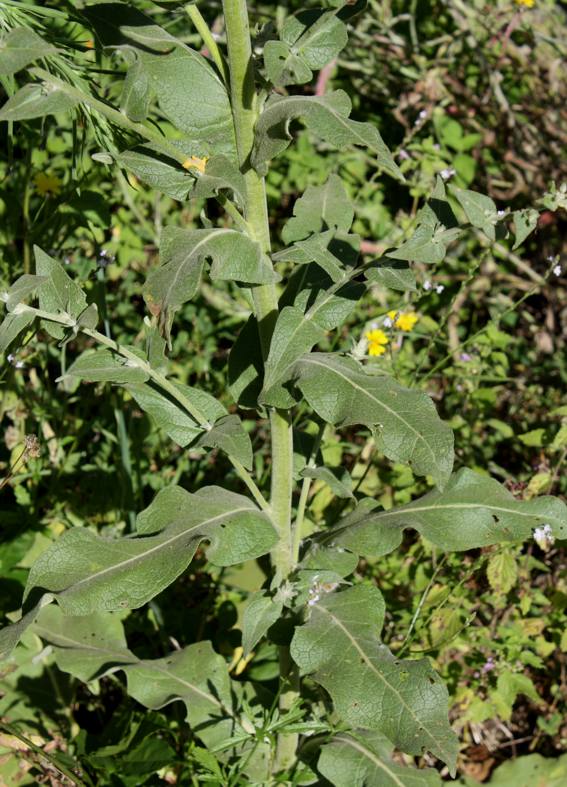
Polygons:
M317 769L335 787L442 787L434 768L399 765L393 749L378 732L339 733L321 747Z

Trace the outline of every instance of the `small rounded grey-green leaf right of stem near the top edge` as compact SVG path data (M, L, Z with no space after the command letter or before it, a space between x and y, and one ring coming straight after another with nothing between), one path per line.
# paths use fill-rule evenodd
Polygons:
M303 11L284 22L280 41L264 46L264 64L276 86L300 85L313 77L347 43L347 31L336 11Z

